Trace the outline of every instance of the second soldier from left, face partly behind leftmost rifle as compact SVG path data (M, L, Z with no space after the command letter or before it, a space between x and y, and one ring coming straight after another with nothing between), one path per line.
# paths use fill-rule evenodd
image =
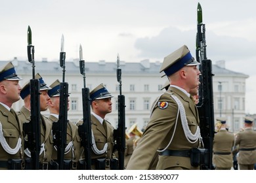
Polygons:
M40 86L40 110L45 111L48 109L49 105L49 95L47 91L51 88L45 84L43 78L37 73L35 79L39 80ZM30 122L30 82L27 82L20 92L20 96L24 100L24 106L20 108L20 111L17 112L20 122L28 123ZM58 164L52 161L52 151L53 151L53 135L51 133L52 122L50 122L47 117L41 114L41 151L40 151L40 167L39 169L58 169ZM26 148L25 142L25 154L30 157L30 150Z

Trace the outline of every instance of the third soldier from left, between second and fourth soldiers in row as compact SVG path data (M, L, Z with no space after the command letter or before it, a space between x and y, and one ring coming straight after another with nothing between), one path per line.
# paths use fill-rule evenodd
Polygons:
M58 122L58 115L60 112L60 81L55 80L53 84L50 85L50 90L48 90L48 95L51 97L49 100L49 111L50 115L48 119L51 122ZM69 93L70 94L70 93ZM68 99L68 110L70 109L69 99ZM77 161L80 156L80 137L78 135L77 125L68 120L67 124L67 137L66 137L66 148L64 152L64 169L77 169ZM54 146L52 158L57 159L57 148Z

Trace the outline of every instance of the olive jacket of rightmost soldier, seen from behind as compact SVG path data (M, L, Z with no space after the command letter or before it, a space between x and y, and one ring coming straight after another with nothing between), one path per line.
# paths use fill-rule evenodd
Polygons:
M256 131L245 129L236 135L236 145L241 148L256 148ZM256 163L256 150L239 150L238 163L251 165Z

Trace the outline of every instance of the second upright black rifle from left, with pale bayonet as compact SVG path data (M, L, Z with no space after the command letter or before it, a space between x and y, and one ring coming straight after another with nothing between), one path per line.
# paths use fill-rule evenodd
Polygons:
M66 148L67 124L68 124L68 83L65 82L65 58L64 52L64 36L61 39L60 48L60 67L62 67L62 82L60 82L60 112L58 122L53 123L54 145L57 146L57 161L60 170L70 169L64 167L64 152Z

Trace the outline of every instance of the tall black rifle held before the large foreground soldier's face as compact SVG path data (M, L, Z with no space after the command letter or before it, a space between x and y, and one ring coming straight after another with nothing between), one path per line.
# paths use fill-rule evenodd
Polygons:
M198 3L198 32L196 35L196 59L199 66L200 88L199 103L197 105L200 116L200 131L204 148L207 149L201 169L215 169L212 163L214 138L214 108L213 108L213 73L211 60L206 57L205 24L202 23L202 7Z

